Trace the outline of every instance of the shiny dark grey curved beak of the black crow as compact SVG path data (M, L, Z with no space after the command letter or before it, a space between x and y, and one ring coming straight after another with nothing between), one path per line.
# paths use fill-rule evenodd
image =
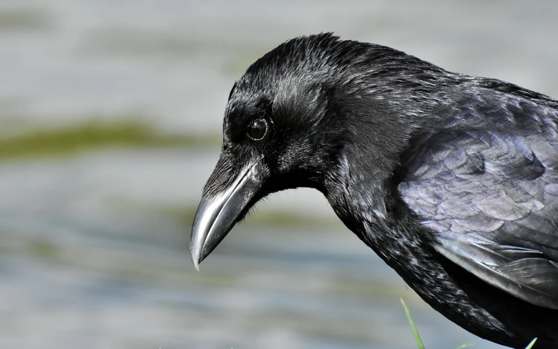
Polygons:
M225 154L223 154L225 155ZM206 193L195 212L190 238L190 252L195 270L200 271L199 264L224 239L235 225L248 203L256 196L262 186L262 176L258 174L258 162L251 161L238 174L231 166L224 166L227 160L222 155L213 174L209 177L206 188L220 187L218 183L226 183L218 192ZM229 167L229 170L226 168ZM229 178L223 178L227 176ZM230 177L234 177L231 181Z

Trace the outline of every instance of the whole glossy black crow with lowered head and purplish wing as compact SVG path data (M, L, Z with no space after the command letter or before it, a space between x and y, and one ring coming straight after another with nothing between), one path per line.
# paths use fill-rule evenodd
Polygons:
M291 39L231 90L195 268L258 200L299 187L465 330L558 348L558 101L385 46Z

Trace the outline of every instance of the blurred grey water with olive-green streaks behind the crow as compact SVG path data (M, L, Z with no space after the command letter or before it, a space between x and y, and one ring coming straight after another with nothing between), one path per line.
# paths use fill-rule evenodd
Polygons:
M302 34L558 97L556 1L0 0L0 348L500 348L421 301L316 191L195 272L229 91Z

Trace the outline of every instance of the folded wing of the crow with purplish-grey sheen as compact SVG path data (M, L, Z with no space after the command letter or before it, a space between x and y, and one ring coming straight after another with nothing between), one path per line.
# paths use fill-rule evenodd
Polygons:
M558 110L494 88L456 92L401 157L398 192L436 250L486 282L558 308Z

